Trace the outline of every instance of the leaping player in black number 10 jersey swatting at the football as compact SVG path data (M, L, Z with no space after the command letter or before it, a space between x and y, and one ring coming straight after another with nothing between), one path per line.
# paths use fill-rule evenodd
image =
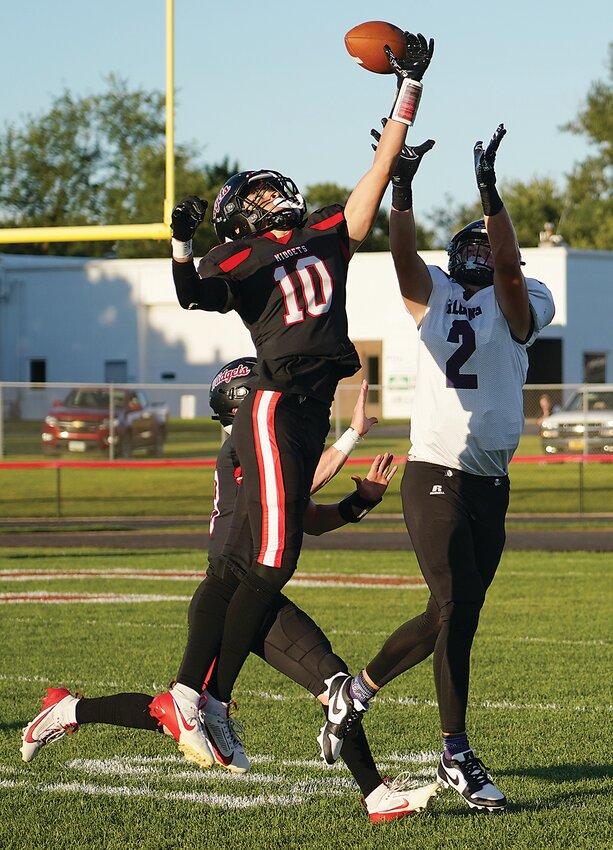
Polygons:
M407 80L421 80L434 50L421 34L405 38L406 57L389 56L399 81L397 100ZM192 237L206 203L192 196L173 211L179 303L187 310L235 310L251 332L258 363L254 391L233 426L243 483L222 553L228 569L203 607L206 633L194 648L188 637L172 690L185 710L197 705L200 683L215 658L220 699L231 701L250 647L296 568L330 405L339 380L360 367L347 334L348 264L372 228L409 123L387 122L373 164L344 208L333 205L307 217L294 182L276 171L230 178L213 206L222 244L200 261L198 271ZM345 521L358 520L359 493L342 510ZM240 548L245 536L252 546L250 564L238 577L231 569L233 547Z

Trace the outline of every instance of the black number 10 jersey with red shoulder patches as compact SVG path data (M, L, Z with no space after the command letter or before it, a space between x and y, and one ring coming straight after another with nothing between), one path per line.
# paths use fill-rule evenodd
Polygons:
M271 233L246 237L213 248L201 260L203 290L207 279L225 280L251 332L258 388L330 404L338 381L360 368L347 331L349 256L343 208L333 205L281 239Z

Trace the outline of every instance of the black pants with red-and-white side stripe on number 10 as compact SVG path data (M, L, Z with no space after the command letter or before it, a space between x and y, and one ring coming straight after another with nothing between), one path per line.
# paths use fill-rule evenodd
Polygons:
M329 409L311 398L257 390L241 404L232 438L243 480L223 556L232 563L248 519L252 561L227 607L217 684L228 700L241 667L302 546L304 511L329 429Z

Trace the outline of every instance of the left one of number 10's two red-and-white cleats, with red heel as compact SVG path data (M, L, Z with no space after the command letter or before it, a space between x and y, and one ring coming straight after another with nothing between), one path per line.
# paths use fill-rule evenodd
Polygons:
M149 713L172 735L187 761L198 767L213 764L213 748L202 728L197 703L171 688L149 703Z

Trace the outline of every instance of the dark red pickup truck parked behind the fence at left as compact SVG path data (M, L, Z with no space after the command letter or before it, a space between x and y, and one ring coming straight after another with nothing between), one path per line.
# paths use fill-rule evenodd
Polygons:
M87 452L130 457L135 449L162 454L166 439L168 408L150 404L143 390L78 387L63 401L55 401L43 422L44 454Z

